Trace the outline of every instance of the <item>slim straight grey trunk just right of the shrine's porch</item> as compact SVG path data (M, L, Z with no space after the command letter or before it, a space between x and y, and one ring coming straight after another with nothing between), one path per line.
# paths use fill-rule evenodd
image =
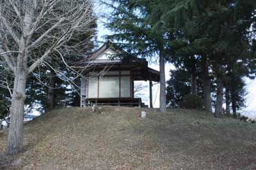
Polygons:
M166 112L166 82L164 73L164 54L163 46L159 49L159 66L160 66L160 111Z

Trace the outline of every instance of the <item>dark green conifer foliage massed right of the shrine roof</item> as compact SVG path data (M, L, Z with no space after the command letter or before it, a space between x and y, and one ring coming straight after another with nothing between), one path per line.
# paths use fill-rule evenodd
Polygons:
M143 57L158 54L160 71L166 61L177 67L168 81L169 106L179 106L188 88L186 93L204 99L205 110L211 112L214 103L216 118L224 94L227 111L230 105L234 113L244 106L243 78L255 76L255 1L112 0L108 5L113 8L108 38ZM181 71L186 74L177 78Z

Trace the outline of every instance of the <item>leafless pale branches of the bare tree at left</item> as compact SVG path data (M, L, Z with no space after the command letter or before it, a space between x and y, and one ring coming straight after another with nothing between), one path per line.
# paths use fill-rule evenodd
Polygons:
M26 69L28 76L41 64L61 74L50 66L52 52L57 52L59 60L76 74L74 78L84 76L90 64L71 66L65 57L77 53L76 47L86 46L87 41L79 41L77 45L67 42L73 41L74 35L79 37L78 34L92 31L94 20L90 0L1 1L0 25L4 29L0 30L0 59L4 59L14 76L17 67Z

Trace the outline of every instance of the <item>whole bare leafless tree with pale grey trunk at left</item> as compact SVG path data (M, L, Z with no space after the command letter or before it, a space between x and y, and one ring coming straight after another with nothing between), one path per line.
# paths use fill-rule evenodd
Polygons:
M63 62L70 53L79 55L76 46L86 45L86 41L77 45L69 42L89 32L93 20L90 0L0 1L0 60L14 77L7 153L17 153L22 148L28 76L36 67L48 65L52 52L58 53ZM77 71L68 64L67 67Z

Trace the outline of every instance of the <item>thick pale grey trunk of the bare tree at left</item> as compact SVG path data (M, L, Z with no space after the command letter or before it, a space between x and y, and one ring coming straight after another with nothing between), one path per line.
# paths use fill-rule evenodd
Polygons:
M22 148L24 102L26 98L26 73L16 71L12 94L12 108L10 109L11 122L8 134L8 144L6 152L8 154L18 153Z

